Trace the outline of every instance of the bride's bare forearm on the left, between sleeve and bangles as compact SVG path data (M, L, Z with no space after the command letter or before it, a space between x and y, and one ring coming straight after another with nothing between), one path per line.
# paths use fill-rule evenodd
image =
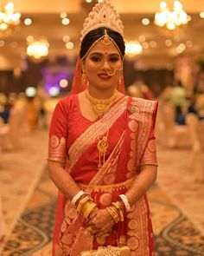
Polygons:
M57 162L48 161L48 174L55 186L65 194L68 200L72 200L73 196L80 191L76 182L67 171Z

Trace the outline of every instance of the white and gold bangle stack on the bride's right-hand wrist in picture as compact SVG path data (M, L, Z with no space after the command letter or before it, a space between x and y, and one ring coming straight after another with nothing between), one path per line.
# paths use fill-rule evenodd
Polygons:
M131 206L126 195L120 194L118 201L112 202L112 205L105 209L112 216L115 223L118 223L118 221L124 221L124 214L131 211Z

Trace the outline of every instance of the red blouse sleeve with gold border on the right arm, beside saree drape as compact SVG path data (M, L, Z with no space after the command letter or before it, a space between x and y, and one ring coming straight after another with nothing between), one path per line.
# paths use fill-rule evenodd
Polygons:
M151 129L149 140L147 145L144 149L142 159L140 161L140 166L144 165L157 165L157 158L156 158L156 137L155 137L155 122L156 122L156 112L157 112L158 102L155 102L155 108L152 113L152 122L151 122Z

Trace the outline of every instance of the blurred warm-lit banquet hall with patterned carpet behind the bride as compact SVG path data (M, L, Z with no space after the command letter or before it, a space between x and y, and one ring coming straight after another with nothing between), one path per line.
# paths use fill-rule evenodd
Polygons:
M97 2L0 1L0 255L51 255L48 128ZM204 1L110 2L124 23L125 94L159 102L156 256L204 255Z

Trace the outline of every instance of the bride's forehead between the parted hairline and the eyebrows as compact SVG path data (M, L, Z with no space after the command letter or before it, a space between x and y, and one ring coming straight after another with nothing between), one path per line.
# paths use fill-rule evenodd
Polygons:
M92 48L89 50L88 55L91 55L93 53L120 55L120 52L119 52L118 48L116 47L115 43L112 42L108 45L105 45L105 43L103 43L102 40L99 40L99 42L95 43L92 46Z

